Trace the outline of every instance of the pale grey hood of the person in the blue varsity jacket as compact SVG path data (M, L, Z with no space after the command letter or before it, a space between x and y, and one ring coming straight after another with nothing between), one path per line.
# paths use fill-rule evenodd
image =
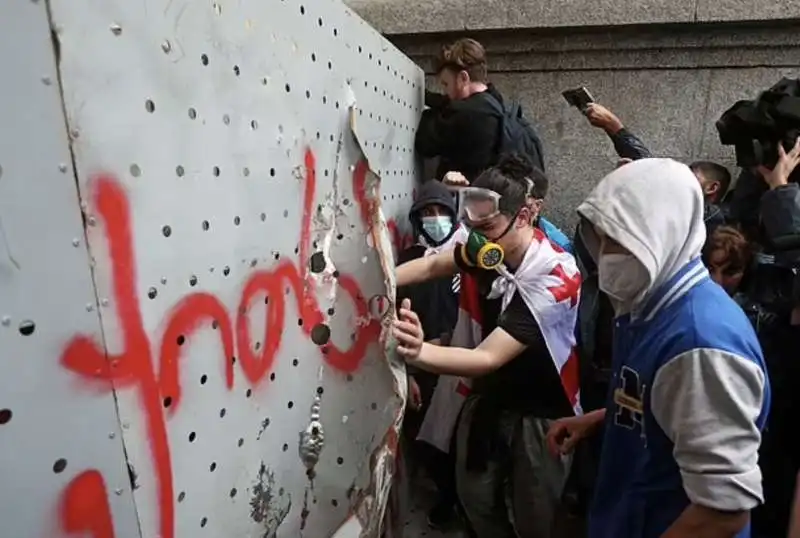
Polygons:
M645 267L650 283L641 304L700 256L706 240L703 193L688 166L672 159L641 159L603 178L578 207L581 238L595 262L600 229Z

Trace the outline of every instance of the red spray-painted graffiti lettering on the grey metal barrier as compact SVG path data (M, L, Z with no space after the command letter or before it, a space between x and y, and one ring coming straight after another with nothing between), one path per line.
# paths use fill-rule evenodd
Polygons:
M357 170L363 166L360 164ZM223 358L220 372L228 389L234 386L234 363L237 356L247 382L251 386L257 386L272 370L281 348L286 313L286 299L283 294L285 287L294 292L306 336L310 336L315 325L324 322L308 269L312 208L316 191L315 159L310 150L305 155L305 169L299 263L295 265L284 260L269 270L254 271L244 283L235 323L231 321L222 302L213 295L193 293L184 297L170 310L156 351L153 350L144 329L136 294L136 257L128 198L113 177L101 175L93 179L93 202L106 228L113 297L120 324L122 348L117 353L109 352L106 355L100 343L86 336L76 336L66 346L61 364L82 379L96 382L105 390L110 390L113 385L117 391L129 387L138 391L144 408L150 457L156 473L159 535L162 538L174 538L175 533L172 461L165 415L174 414L182 400L180 360L183 344L195 331L213 327L220 336ZM363 217L365 207L360 209ZM374 207L369 206L368 209L371 211ZM367 301L355 278L339 275L338 284L353 301L356 316L359 319L370 319ZM250 345L248 310L256 298L265 296L265 344L256 353ZM339 349L332 344L322 346L323 359L339 371L353 372L358 369L367 347L376 342L379 335L380 323L370 320L357 327L354 342L349 349ZM92 510L86 508L86 503L90 501ZM63 493L63 529L68 533L90 532L93 538L112 538L114 532L111 521L102 476L95 470L89 470L73 479Z

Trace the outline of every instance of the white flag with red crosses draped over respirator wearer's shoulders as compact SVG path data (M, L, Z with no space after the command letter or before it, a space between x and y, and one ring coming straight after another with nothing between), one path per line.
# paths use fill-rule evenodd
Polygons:
M466 230L462 228L451 241L463 243L465 239ZM508 307L514 293L519 292L542 331L553 366L561 377L564 394L575 414L581 414L578 355L575 349L581 276L575 258L536 229L534 241L516 273L511 274L504 268L498 273L489 298L501 299L502 312ZM473 349L483 337L477 281L472 275L462 274L458 321L451 345ZM470 385L469 379L439 377L418 439L449 452L455 423L469 395Z

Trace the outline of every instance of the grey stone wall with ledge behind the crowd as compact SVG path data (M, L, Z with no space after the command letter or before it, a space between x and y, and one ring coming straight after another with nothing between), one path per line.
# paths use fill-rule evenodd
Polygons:
M733 168L714 122L782 76L800 77L796 0L349 3L428 72L443 43L468 35L484 44L492 81L523 103L544 140L548 213L566 227L616 155L561 91L587 86L659 155Z

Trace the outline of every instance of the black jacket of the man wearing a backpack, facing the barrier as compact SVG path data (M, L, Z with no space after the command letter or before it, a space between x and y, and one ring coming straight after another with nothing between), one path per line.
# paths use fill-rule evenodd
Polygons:
M487 93L503 102L491 84L486 92L458 101L426 92L425 104L430 108L422 113L416 148L423 157L440 158L437 179L454 171L472 182L497 162L501 120Z

